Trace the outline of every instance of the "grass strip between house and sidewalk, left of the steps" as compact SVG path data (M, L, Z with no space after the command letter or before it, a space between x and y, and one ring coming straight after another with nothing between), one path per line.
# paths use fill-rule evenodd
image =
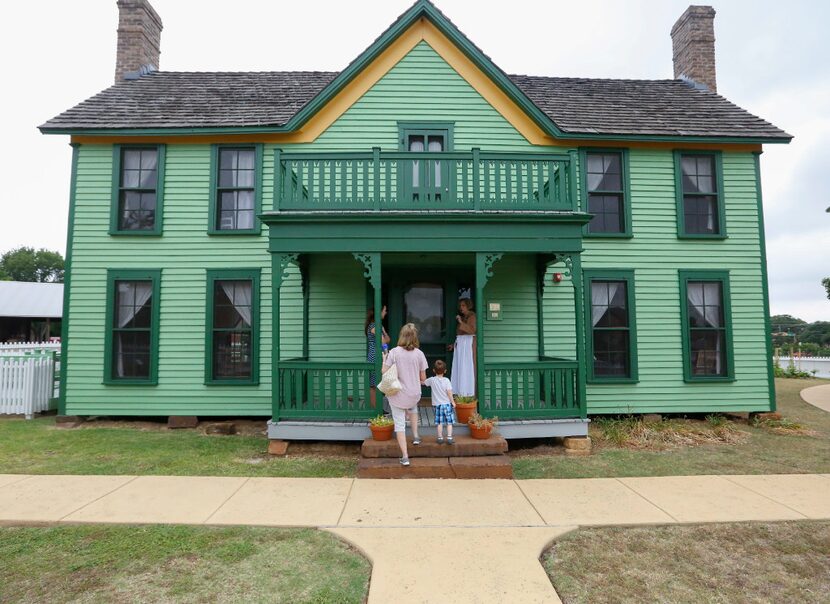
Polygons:
M0 474L354 476L355 455L266 453L260 436L195 430L58 429L54 417L0 420Z

